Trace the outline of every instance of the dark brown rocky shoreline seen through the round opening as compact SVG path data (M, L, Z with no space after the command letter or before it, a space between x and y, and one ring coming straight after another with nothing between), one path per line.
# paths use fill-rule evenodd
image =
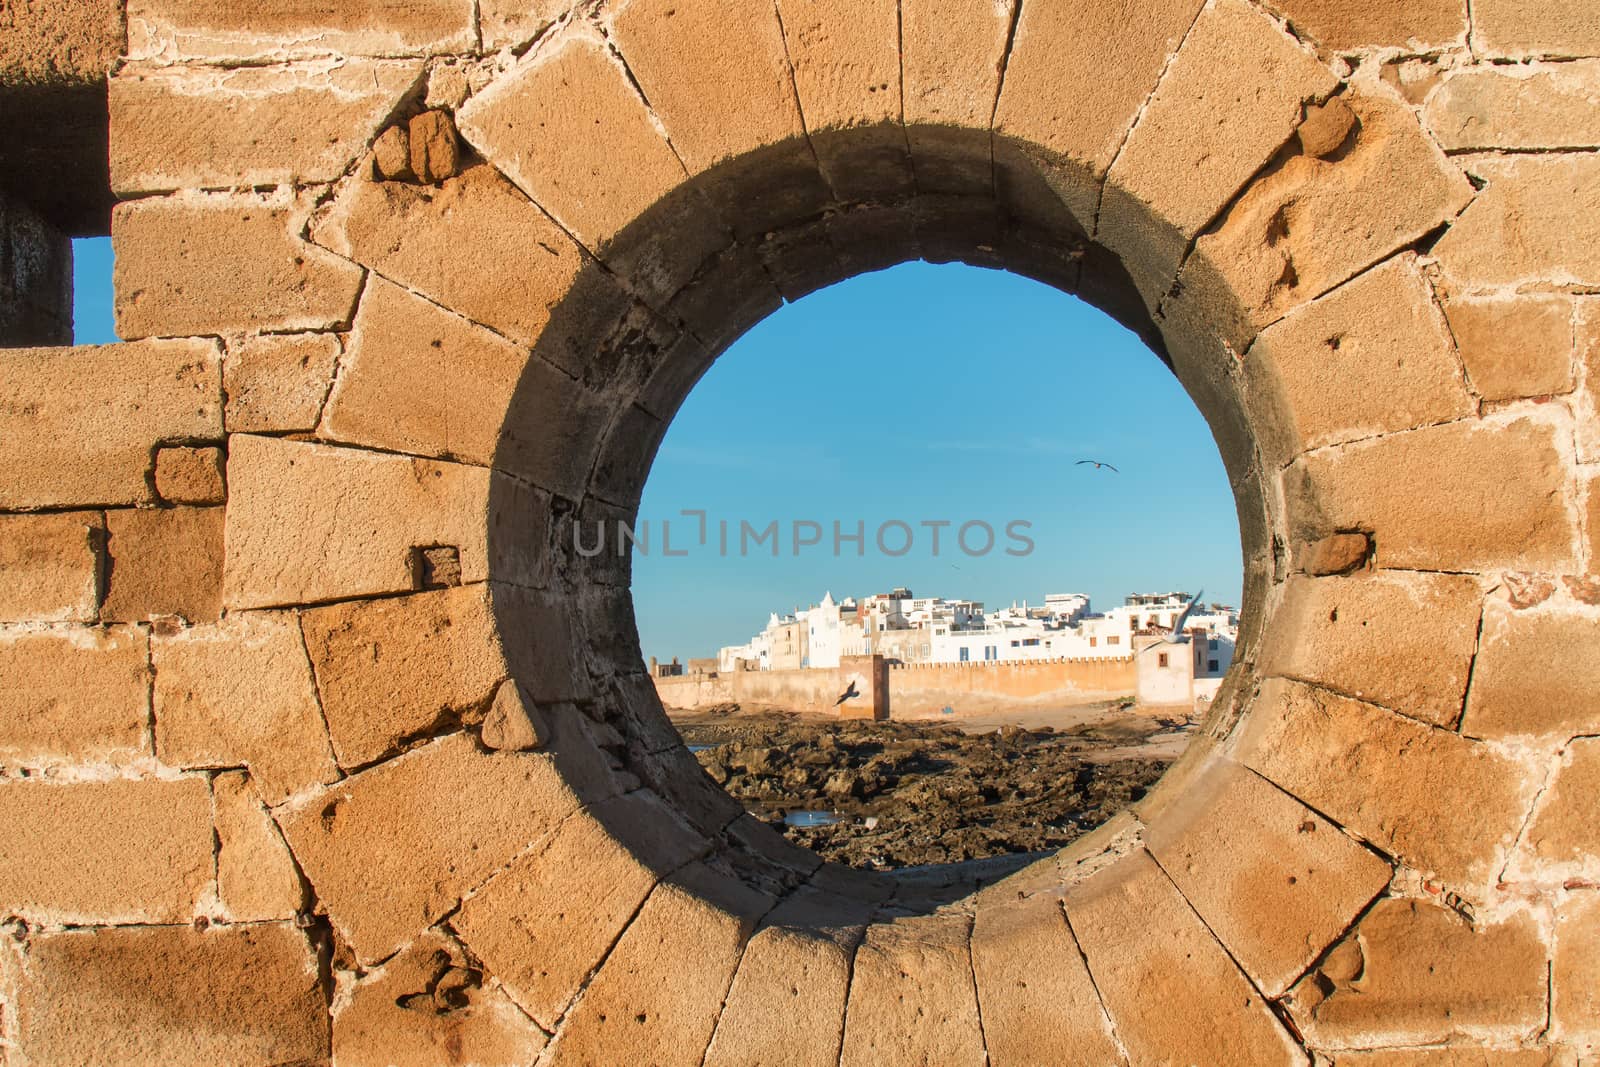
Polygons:
M1189 729L1125 709L984 733L736 705L674 723L747 811L824 859L880 870L1069 845L1144 797Z

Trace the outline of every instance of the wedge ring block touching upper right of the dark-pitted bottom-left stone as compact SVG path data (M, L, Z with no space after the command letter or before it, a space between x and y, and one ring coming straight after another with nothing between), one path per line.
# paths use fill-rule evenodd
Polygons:
M634 792L566 819L544 848L462 902L451 926L522 1009L554 1030L656 881L707 848L659 800Z

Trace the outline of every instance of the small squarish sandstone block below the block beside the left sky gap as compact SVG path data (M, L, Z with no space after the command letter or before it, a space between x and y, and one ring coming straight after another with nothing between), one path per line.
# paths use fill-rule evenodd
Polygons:
M330 333L246 338L222 360L229 434L312 430L339 358Z

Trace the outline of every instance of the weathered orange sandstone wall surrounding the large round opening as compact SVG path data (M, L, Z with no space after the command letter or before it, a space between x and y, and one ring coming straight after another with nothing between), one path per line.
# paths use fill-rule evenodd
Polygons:
M125 16L126 344L0 352L8 1061L1594 1059L1590 0ZM570 550L912 258L1147 338L1245 541L1203 741L994 886L754 824Z

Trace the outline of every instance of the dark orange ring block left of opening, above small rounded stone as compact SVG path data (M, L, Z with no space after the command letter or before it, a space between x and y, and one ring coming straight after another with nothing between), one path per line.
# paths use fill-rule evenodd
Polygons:
M301 621L344 768L480 718L507 673L483 584L315 608Z

